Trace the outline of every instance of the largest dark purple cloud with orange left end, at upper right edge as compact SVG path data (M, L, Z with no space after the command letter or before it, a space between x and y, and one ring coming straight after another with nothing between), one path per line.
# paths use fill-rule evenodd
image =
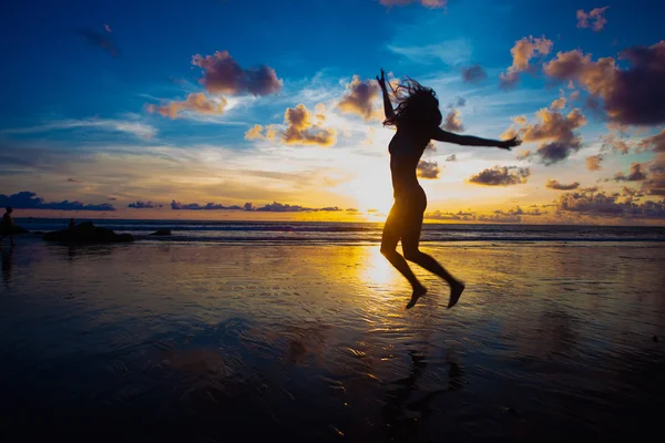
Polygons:
M577 82L603 100L611 122L627 125L665 123L665 41L652 47L634 47L621 52L620 60L631 66L621 69L613 58L592 61L580 50L560 52L544 66L556 80Z

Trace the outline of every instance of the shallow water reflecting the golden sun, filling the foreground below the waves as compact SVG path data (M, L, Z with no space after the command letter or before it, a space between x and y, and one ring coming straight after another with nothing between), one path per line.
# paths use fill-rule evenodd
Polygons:
M457 243L458 307L377 246L2 249L1 432L119 441L635 435L665 406L658 243Z

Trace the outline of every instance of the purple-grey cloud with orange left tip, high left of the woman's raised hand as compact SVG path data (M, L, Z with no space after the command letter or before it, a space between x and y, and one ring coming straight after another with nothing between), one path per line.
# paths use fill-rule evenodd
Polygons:
M192 64L203 69L200 83L213 93L268 95L282 90L283 81L277 79L273 68L262 65L243 69L228 51L216 51L213 55L192 58Z

